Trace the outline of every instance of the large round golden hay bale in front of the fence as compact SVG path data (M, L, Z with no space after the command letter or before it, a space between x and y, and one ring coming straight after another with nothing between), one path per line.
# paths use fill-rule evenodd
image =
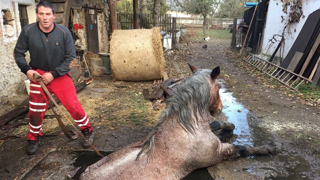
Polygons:
M164 53L160 29L115 30L110 41L110 64L116 80L161 79Z

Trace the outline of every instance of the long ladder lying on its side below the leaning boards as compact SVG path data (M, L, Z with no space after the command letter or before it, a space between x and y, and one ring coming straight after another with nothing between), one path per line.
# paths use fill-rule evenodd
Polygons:
M262 59L254 54L251 54L243 59L243 61L266 73L270 77L276 79L287 87L298 91L298 88L307 82L312 82L299 74L286 70L278 65L275 65L265 59Z

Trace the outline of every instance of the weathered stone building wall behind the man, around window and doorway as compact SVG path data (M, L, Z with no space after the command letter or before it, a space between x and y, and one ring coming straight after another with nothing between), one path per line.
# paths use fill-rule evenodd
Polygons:
M61 1L59 1L61 2ZM12 36L8 36L6 26L4 25L3 15L0 16L0 104L10 102L12 97L18 96L21 93L27 93L24 85L24 80L27 79L26 75L21 73L20 69L15 63L13 57L13 50L16 45L17 39L21 32L21 25L19 21L18 5L26 5L29 23L36 22L36 4L35 0L8 0L0 1L0 10L9 10L14 21L10 29L13 31ZM64 4L55 4L56 11L63 11ZM101 52L109 52L109 39L108 39L108 6L103 4L101 0L76 0L72 6L77 9L79 13L79 23L84 25L82 36L83 49L87 51L87 35L86 35L86 22L85 22L85 7L97 8L98 11L98 26L99 26L99 50ZM107 13L107 14L106 14ZM57 23L63 22L63 15L60 14L56 18ZM11 31L10 31L11 32ZM29 61L28 54L26 59Z

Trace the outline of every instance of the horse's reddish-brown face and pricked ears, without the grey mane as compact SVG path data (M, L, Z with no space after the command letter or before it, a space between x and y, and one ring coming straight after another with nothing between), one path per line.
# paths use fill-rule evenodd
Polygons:
M193 72L193 74L201 73L199 71L202 71L196 66L192 66L190 64L189 68ZM217 116L222 111L222 101L220 99L219 95L219 89L221 88L220 82L217 80L218 75L220 74L220 67L216 67L212 70L210 74L210 105L209 105L209 111L212 116Z

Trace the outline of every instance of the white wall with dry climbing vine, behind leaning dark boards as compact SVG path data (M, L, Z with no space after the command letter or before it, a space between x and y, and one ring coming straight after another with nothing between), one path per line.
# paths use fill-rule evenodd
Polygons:
M277 5L278 4L278 5ZM295 22L291 24L291 35L287 35L285 37L285 45L283 48L283 58L286 56L286 54L291 49L292 45L295 42L295 39L298 37L305 21L307 20L309 14L311 14L313 11L320 8L320 0L303 0L302 3L302 11L303 15L305 15L304 18L300 18L299 22ZM289 11L288 7L288 11ZM263 45L262 45L262 53L272 55L275 51L276 47L278 46L279 42L276 42L272 46L270 46L269 40L272 39L273 35L281 35L282 29L284 28L284 23L281 22L281 15L286 16L282 12L282 3L280 0L270 0L269 7L268 7L268 13L267 13L267 20L266 20L266 26L264 30L264 36L263 36ZM294 32L294 29L296 28L296 32ZM287 29L285 30L287 31ZM278 38L280 40L280 38ZM270 47L270 48L269 48ZM280 50L278 50L276 56L279 57Z

